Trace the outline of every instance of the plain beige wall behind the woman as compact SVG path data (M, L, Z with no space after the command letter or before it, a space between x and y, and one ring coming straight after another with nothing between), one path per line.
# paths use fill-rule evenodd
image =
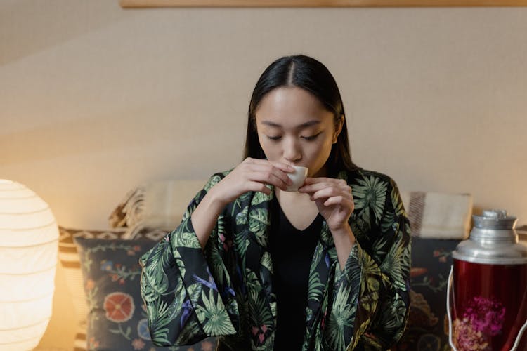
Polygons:
M262 69L306 53L337 78L360 166L405 190L471 192L525 224L525 33L527 8L3 0L0 178L36 191L60 225L107 227L131 187L237 164ZM62 293L45 345L70 345Z

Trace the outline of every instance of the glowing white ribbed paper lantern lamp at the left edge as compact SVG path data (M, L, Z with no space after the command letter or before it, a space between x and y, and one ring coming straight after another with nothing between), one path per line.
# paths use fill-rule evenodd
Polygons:
M58 227L40 197L0 179L0 351L37 347L51 318Z

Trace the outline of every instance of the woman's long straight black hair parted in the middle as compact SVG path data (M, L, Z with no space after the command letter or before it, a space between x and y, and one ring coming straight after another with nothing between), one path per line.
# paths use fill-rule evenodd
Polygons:
M340 121L341 117L344 117L342 131L337 138L337 143L332 145L330 157L326 162L327 172L330 176L336 176L339 171L357 169L358 167L351 161L346 114L344 114L344 104L337 82L322 62L305 55L285 56L275 60L263 71L256 82L249 104L244 159L246 157L266 158L256 131L256 109L266 94L282 86L297 86L315 95L323 103L325 109L332 112L335 124Z

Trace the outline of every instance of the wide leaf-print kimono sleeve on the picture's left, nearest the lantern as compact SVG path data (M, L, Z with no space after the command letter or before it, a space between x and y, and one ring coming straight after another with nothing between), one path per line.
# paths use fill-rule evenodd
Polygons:
M155 345L191 345L208 336L236 333L238 307L228 274L213 277L209 269L212 260L216 269L222 265L221 256L205 257L190 220L219 180L221 174L212 176L190 202L176 230L141 257L141 297Z

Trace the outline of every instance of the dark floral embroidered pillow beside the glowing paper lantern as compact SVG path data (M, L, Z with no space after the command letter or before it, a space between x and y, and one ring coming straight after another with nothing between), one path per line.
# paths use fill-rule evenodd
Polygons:
M155 241L81 237L74 241L79 249L89 310L88 350L214 350L214 338L180 347L157 347L150 341L138 259Z

